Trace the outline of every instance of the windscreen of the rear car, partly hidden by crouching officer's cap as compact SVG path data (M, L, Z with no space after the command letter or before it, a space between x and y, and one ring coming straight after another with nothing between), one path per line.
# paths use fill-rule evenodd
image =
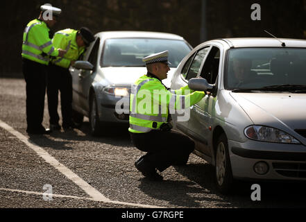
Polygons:
M169 51L169 67L177 67L192 49L181 40L118 38L105 41L101 67L144 67L142 58Z

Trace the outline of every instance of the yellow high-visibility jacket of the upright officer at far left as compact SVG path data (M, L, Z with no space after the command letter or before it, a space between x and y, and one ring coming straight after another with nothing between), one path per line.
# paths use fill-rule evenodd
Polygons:
M49 37L50 29L45 22L34 19L24 30L22 58L44 65L49 64L49 56L58 56L58 49Z

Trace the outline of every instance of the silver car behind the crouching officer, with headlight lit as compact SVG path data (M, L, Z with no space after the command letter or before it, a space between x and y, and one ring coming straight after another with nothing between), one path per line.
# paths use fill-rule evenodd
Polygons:
M171 71L163 83L170 87L173 72L192 46L169 33L109 31L95 37L83 59L70 68L72 107L76 123L89 117L92 135L101 135L110 123L128 124L131 85L146 74L142 58L169 50Z

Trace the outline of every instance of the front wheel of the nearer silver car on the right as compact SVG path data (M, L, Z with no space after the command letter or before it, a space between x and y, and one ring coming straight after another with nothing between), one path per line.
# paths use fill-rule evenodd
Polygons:
M233 185L232 167L228 153L228 138L223 133L216 143L216 186L222 194L228 194Z

